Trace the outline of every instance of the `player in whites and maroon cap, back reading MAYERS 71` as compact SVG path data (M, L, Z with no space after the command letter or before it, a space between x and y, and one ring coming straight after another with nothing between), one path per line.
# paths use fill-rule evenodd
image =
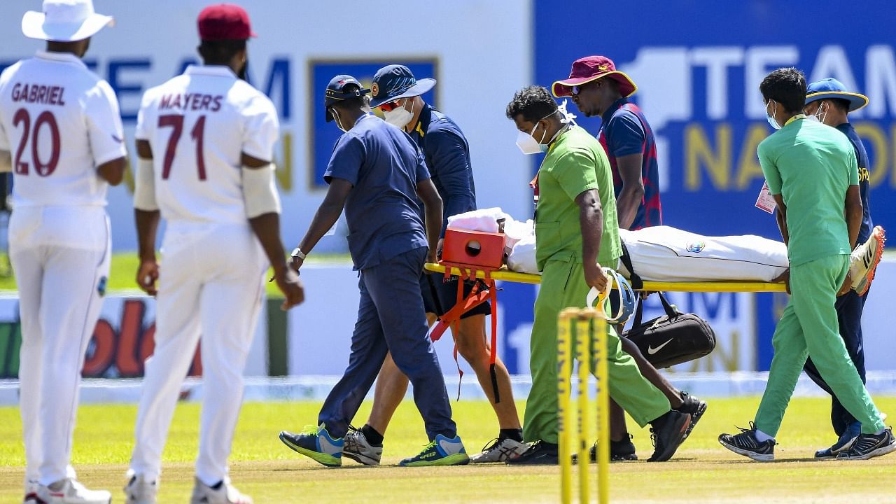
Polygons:
M137 118L134 207L137 282L157 293L155 352L146 361L127 502L154 503L171 416L202 334L204 379L194 503L251 503L228 478L243 370L269 264L286 296L304 298L280 241L274 185L277 110L237 77L253 36L246 11L218 4L199 14L204 65L146 91ZM168 222L163 264L159 219Z

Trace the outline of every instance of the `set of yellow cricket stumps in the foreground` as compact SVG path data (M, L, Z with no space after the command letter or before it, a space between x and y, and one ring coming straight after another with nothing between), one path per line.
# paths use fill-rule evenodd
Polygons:
M579 383L576 388L578 433L576 457L579 465L579 501L590 500L589 491L589 421L592 413L588 395L591 362L597 377L598 413L598 502L609 502L609 393L607 386L607 320L594 308L566 308L557 319L557 443L560 459L560 501L573 501L573 454L571 435L573 412L570 400L570 375L573 371L573 338L575 326L575 358L579 361Z

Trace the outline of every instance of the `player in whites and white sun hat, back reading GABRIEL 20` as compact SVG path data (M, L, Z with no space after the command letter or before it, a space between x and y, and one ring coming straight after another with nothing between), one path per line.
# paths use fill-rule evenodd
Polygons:
M46 50L0 75L0 169L13 171L10 260L22 320L25 501L107 503L69 459L84 352L109 270L108 185L125 144L115 92L82 63L112 22L90 0L45 0L22 32Z

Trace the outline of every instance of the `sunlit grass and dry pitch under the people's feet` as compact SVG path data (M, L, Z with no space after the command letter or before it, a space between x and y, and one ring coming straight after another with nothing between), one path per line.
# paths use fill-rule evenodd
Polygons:
M714 399L700 425L676 457L664 464L614 464L610 470L613 502L896 502L896 455L866 462L812 460L814 450L831 443L829 402L795 399L779 434L778 461L751 462L721 448L719 432L746 426L757 397ZM878 398L883 411L896 414L896 397ZM497 431L484 402L452 404L468 451L487 443ZM237 427L231 475L255 502L556 502L556 467L508 467L503 464L441 468L397 467L416 454L426 437L413 404L405 401L387 433L384 466L366 467L347 460L328 469L299 456L277 439L279 430L300 430L316 418L317 403L246 404ZM366 418L369 404L358 413ZM520 404L522 411L522 404ZM165 450L160 502L184 502L192 488L192 461L199 404L180 404ZM133 441L134 405L90 405L79 412L73 463L90 487L113 491L122 501L126 464ZM632 423L630 423L630 426ZM0 502L22 499L21 421L13 407L0 408ZM647 430L633 430L642 458L650 455ZM590 466L594 471L594 465Z

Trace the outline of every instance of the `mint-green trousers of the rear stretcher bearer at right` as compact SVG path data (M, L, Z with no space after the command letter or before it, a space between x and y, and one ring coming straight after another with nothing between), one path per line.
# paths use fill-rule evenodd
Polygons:
M846 278L849 256L830 256L790 268L790 302L771 339L769 381L756 412L756 429L777 436L799 373L812 357L840 404L866 434L883 429L881 415L840 337L834 301Z

